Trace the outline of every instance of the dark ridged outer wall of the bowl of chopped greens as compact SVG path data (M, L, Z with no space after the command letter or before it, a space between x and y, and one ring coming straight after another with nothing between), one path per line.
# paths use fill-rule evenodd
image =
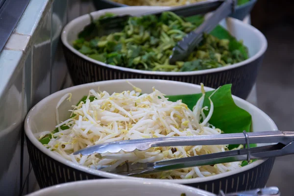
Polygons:
M234 69L221 72L206 73L199 75L159 75L125 72L118 69L108 68L98 63L90 62L63 45L64 55L68 70L74 85L85 84L112 79L163 79L200 84L211 88L218 88L224 84L232 84L232 94L246 99L255 84L263 55L254 61Z

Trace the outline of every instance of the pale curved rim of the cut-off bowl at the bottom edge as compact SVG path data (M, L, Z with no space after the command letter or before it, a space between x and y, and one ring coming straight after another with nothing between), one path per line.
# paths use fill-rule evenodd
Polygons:
M72 189L74 187L84 187L84 186L100 186L103 187L104 185L109 184L121 184L129 186L148 186L149 188L154 187L162 187L162 190L166 189L167 187L172 187L173 189L177 189L183 193L194 193L194 194L200 194L201 196L216 196L215 194L209 193L207 191L196 189L194 187L186 186L186 185L180 185L180 184L174 184L170 182L154 182L149 181L148 179L145 181L138 181L133 179L95 179L95 180L80 180L80 181L73 181L73 182L67 182L62 183L54 186L47 187L45 189L41 189L39 191L36 191L34 193L31 193L27 196L42 196L43 194L50 194L51 191L55 190L68 190ZM176 185L176 186L175 186ZM131 187L129 186L129 187Z

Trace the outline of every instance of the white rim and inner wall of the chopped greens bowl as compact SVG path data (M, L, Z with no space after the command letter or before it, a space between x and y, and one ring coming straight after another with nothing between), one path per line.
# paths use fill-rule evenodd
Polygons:
M162 7L162 6L127 6L127 7L120 7L120 8L111 8L111 9L104 9L104 10L99 10L96 12L90 13L91 16L93 16L94 19L98 19L101 15L111 12L115 14L140 14L144 13L147 11L151 10L160 10L163 8L168 8L168 7ZM242 21L239 21L237 19L233 18L228 18L226 20L221 21L220 25L222 25L224 28L228 29L228 31L236 37L237 40L243 40L244 45L248 48L249 51L249 56L250 58L242 61L240 63L236 63L231 66L225 66L221 68L214 68L214 69L208 69L208 70L200 70L200 71L192 71L192 72L153 72L153 71L144 71L144 70L135 70L135 69L130 69L130 68L124 68L124 67L119 67L119 66L114 66L114 65L109 65L102 63L100 61L94 60L76 49L73 48L73 41L77 39L77 34L83 30L85 25L90 24L90 16L89 15L83 15L81 17L78 17L68 23L61 34L61 41L62 43L70 49L72 52L74 52L76 55L91 61L93 63L99 62L99 65L103 65L105 67L109 68L114 68L118 69L121 71L126 71L126 72L134 72L134 73L145 73L145 74L159 74L159 75L191 75L191 74L203 74L203 73L213 73L213 72L219 72L219 71L224 71L224 70L229 70L233 69L236 67L243 66L249 62L252 62L256 60L258 57L260 57L267 49L268 44L267 44L267 39L266 37L256 28L254 28L251 25L245 24Z

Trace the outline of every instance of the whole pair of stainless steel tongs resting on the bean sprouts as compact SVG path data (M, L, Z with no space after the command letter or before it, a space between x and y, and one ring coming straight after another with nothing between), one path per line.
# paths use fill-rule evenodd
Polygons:
M247 133L232 133L220 135L182 136L125 140L86 147L73 154L91 155L106 152L118 153L121 150L132 152L134 150L147 150L150 147L177 147L196 145L239 145L243 149L229 150L206 155L192 156L153 163L124 163L113 170L103 166L99 170L118 173L122 175L136 175L142 173L163 172L175 169L190 168L203 165L214 165L235 161L250 161L251 159L264 159L284 156L294 153L294 131L267 131ZM274 144L273 144L274 143ZM262 147L252 147L249 144L270 144Z

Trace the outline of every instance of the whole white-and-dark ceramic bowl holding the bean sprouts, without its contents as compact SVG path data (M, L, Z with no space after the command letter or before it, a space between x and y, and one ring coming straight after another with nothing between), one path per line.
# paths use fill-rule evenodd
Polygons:
M151 93L152 87L155 87L166 95L200 93L200 86L190 83L152 79L129 79L128 81L141 88L142 91L146 93ZM78 102L84 95L88 95L90 89L98 90L98 87L100 90L105 90L109 93L132 90L132 87L129 86L125 80L101 81L74 86L44 98L29 111L25 119L25 134L27 136L30 159L41 188L68 181L92 178L146 180L146 178L117 175L74 164L49 151L34 137L34 133L52 130L55 127L55 106L62 96L66 93L72 93L73 95L71 102L64 102L59 107L60 120L66 120L71 104ZM212 89L206 88L206 90L209 91ZM270 117L263 111L241 98L235 96L233 98L239 107L251 114L252 130L254 132L277 130L275 123L273 123ZM172 181L173 183L187 184L217 194L220 189L226 192L244 191L247 189L264 187L268 180L272 164L273 159L258 160L240 170L209 177L177 180L150 180L154 182Z

